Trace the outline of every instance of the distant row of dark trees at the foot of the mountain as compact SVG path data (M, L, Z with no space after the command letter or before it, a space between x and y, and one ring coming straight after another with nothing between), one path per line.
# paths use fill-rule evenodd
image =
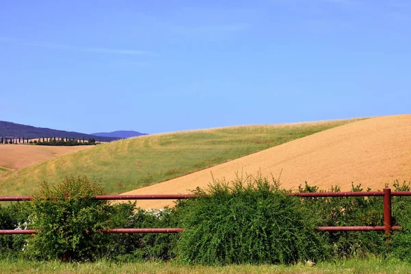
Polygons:
M96 145L95 138L88 138L88 141L83 137L82 139L75 138L38 138L38 140L29 140L18 137L17 138L3 138L1 137L0 144L36 144L36 145L51 145L51 146L75 146L75 145Z

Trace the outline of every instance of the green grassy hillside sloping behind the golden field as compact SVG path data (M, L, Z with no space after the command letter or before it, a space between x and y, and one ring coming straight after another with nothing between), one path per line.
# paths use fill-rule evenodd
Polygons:
M101 179L108 193L126 192L352 121L358 120L222 127L119 140L7 173L0 178L0 195L31 195L38 182L60 182L71 175Z

